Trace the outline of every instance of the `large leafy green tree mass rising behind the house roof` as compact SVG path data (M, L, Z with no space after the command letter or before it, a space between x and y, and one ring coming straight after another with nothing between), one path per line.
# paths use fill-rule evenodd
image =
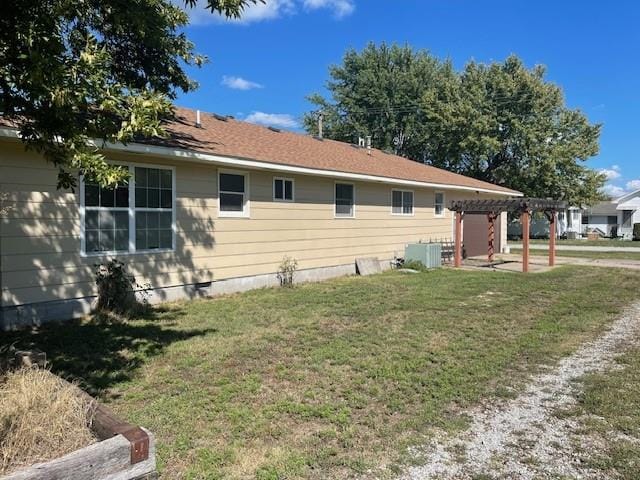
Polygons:
M529 196L591 204L604 177L584 162L598 153L600 125L565 104L545 69L515 56L489 65L451 62L409 46L350 50L330 69L330 100L312 95L305 116L330 138L371 135L374 146Z

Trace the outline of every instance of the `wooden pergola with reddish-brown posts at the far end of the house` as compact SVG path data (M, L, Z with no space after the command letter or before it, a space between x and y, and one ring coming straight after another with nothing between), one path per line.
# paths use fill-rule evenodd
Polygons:
M556 224L559 209L566 208L562 200L544 198L511 198L505 200L455 200L451 210L456 212L454 265L462 266L462 220L465 215L486 215L489 220L488 257L495 254L495 221L502 212L520 215L522 225L522 271L529 271L529 220L533 212L543 212L549 219L549 265L556 261Z

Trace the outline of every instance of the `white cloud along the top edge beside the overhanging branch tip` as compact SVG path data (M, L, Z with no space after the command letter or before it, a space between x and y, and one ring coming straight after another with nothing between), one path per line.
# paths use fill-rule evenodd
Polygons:
M179 0L172 0L176 5L184 7ZM198 0L193 8L187 8L192 25L208 25L211 23L249 24L267 20L275 20L287 15L294 15L302 5L306 10L329 9L335 18L344 18L355 10L354 0L265 0L249 4L240 18L226 18L211 13L206 9L206 0Z

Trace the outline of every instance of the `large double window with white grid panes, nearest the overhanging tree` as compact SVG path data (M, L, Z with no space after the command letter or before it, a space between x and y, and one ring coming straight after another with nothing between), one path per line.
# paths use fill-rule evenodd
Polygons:
M82 253L172 250L175 243L175 178L166 167L130 166L127 185L103 188L82 179Z

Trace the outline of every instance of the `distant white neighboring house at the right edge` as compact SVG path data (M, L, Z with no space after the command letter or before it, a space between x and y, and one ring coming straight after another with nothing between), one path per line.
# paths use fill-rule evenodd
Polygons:
M584 234L596 231L609 237L616 230L618 237L631 239L634 223L640 223L640 190L615 200L601 202L582 212Z

